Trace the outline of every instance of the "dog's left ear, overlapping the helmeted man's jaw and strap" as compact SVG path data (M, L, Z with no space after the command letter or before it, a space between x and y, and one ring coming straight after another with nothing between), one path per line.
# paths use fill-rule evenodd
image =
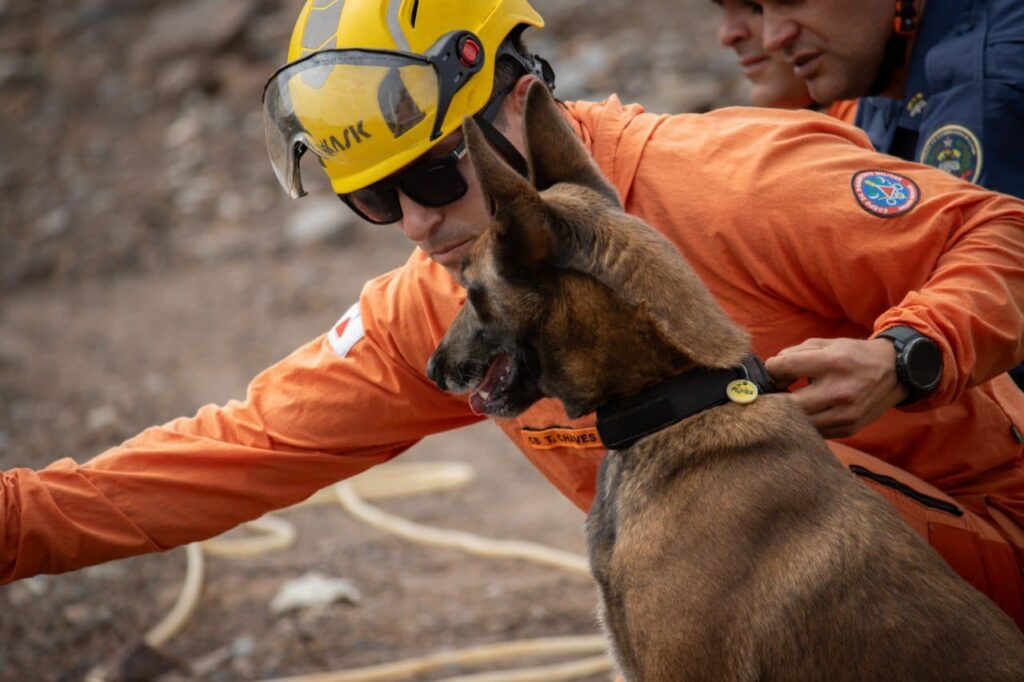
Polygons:
M513 257L521 264L547 260L554 238L540 194L490 146L471 117L463 119L462 132L490 213L490 227L506 247L503 257Z

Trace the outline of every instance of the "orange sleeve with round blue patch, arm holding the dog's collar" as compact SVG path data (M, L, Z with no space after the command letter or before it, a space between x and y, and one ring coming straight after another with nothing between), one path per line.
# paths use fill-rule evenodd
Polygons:
M691 169L683 187L681 167ZM873 214L854 191L865 170L909 179L920 197L902 215ZM662 197L657 219L697 226L684 254L720 280L751 279L774 300L868 334L908 325L935 339L946 369L923 408L1024 355L1018 200L878 154L861 131L803 112L665 119L638 177Z

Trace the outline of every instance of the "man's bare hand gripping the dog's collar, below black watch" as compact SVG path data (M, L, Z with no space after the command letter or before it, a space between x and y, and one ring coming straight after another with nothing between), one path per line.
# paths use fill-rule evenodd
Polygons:
M887 339L808 339L780 350L765 368L779 386L810 382L790 397L826 438L853 435L906 397Z

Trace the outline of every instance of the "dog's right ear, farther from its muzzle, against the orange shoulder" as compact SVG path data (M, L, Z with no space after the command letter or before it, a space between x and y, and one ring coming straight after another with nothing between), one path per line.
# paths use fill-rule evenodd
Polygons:
M544 190L559 182L590 187L620 206L618 194L598 170L594 160L540 81L526 91L526 146L534 185Z

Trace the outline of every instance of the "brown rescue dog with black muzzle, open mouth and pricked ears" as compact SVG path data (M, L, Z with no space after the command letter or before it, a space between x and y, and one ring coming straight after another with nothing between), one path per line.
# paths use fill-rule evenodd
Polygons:
M463 125L490 222L463 263L467 303L431 380L494 417L551 396L571 418L598 411L600 428L609 404L749 364L745 332L624 212L537 84L525 126L528 179ZM609 449L586 528L627 680L1024 680L1010 617L783 394Z

